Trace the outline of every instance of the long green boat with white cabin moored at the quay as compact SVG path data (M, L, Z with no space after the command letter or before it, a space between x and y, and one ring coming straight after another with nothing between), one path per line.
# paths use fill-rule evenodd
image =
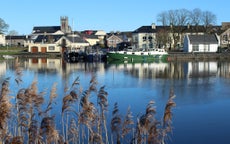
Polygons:
M167 60L168 53L164 49L151 49L149 51L109 51L107 59L109 61L143 61L150 62L156 60Z

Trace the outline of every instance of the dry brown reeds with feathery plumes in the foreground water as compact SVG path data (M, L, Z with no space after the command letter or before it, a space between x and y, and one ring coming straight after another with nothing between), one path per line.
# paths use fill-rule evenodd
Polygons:
M21 83L21 70L16 69L16 82ZM20 88L16 103L10 102L9 79L5 79L0 91L0 143L3 144L84 144L84 143L151 143L168 142L172 132L172 108L175 107L173 90L170 91L161 120L156 119L155 102L149 101L144 114L133 117L131 108L125 116L119 104L113 106L111 121L108 121L109 94L106 86L98 87L97 78L92 76L88 88L83 90L80 78L64 88L60 112L53 109L58 97L57 83L49 92L39 92L37 80L28 88ZM91 98L97 101L92 102ZM46 105L46 106L44 106ZM43 107L43 108L42 108ZM17 119L15 120L14 117ZM55 118L61 117L61 129ZM9 128L14 123L14 128ZM110 129L109 129L110 128Z

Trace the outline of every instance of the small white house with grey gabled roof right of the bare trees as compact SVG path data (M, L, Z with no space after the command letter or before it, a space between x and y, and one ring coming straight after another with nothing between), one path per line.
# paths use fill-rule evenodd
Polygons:
M185 35L184 52L217 52L219 38L212 35Z

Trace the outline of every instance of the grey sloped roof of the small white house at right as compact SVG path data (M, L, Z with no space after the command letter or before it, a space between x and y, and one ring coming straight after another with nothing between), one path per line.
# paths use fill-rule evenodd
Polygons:
M191 44L218 44L215 34L212 35L188 35Z

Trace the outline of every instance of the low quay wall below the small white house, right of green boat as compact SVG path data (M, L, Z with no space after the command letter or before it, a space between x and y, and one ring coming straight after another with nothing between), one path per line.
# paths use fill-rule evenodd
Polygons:
M230 53L169 53L168 61L230 60Z

